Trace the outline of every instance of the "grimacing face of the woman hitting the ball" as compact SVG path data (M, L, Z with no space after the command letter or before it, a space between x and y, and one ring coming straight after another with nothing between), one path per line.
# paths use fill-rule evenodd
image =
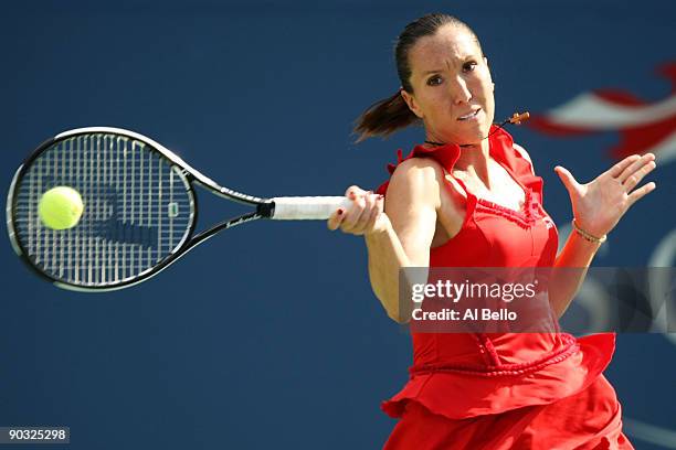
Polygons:
M488 62L473 35L445 25L421 38L409 52L413 93L402 90L409 108L425 124L427 138L479 143L495 116Z

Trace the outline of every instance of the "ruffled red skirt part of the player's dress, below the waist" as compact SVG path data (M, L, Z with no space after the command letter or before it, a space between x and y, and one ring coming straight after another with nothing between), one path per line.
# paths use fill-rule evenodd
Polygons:
M601 375L613 350L614 335L599 334L529 373L414 375L382 405L401 418L384 450L633 449Z

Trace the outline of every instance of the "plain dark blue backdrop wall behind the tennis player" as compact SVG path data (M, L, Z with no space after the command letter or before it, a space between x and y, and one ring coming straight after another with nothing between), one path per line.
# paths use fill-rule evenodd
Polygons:
M669 93L654 69L676 61L672 1L29 1L0 17L0 185L42 140L115 126L254 195L374 188L422 132L356 146L352 120L395 92L392 42L433 11L482 39L497 118L594 88ZM617 133L509 131L545 178L563 237L570 203L553 167L592 179L612 164ZM657 191L595 265L647 265L675 229L675 169L651 174ZM240 211L200 201L204 226ZM39 280L8 239L0 265L0 426L70 426L72 449L372 449L394 425L379 403L406 379L409 336L371 293L362 240L323 223L234 228L151 281L105 294ZM674 345L619 336L606 375L625 418L676 430Z

